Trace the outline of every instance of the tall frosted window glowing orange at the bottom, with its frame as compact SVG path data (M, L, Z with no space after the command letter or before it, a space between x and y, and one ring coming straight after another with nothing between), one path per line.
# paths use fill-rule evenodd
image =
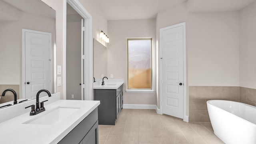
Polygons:
M127 38L127 90L152 90L152 38Z

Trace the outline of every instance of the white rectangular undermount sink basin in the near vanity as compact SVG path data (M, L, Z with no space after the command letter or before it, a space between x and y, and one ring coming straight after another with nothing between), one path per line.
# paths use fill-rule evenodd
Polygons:
M49 112L42 112L43 115L32 118L22 124L44 124L44 125L53 125L58 124L74 112L79 110L79 107L62 107L58 106Z

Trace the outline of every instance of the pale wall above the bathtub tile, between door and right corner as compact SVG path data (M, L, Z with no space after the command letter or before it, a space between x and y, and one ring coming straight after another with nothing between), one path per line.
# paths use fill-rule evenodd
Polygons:
M239 13L189 13L188 86L239 86Z

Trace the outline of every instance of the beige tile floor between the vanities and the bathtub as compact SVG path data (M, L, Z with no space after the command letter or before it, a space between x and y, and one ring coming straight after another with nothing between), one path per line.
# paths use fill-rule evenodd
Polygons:
M122 109L115 126L99 125L99 144L224 144L209 122L184 122L156 110Z

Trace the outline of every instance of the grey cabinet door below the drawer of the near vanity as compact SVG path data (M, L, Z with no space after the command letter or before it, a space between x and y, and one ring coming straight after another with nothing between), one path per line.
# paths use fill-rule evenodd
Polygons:
M94 124L91 130L86 134L80 144L98 144L98 121Z

